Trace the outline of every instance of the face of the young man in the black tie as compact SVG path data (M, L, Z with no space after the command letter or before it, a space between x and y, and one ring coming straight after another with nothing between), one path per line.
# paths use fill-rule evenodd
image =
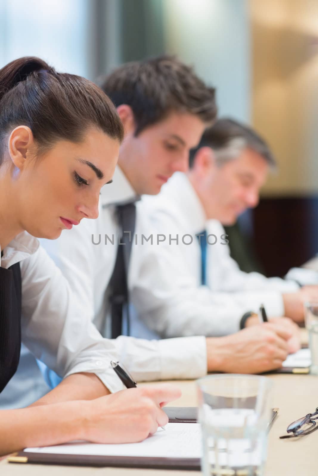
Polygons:
M137 137L134 130L128 131L118 163L136 193L156 195L174 172L186 171L189 150L198 144L204 129L197 116L172 112Z

